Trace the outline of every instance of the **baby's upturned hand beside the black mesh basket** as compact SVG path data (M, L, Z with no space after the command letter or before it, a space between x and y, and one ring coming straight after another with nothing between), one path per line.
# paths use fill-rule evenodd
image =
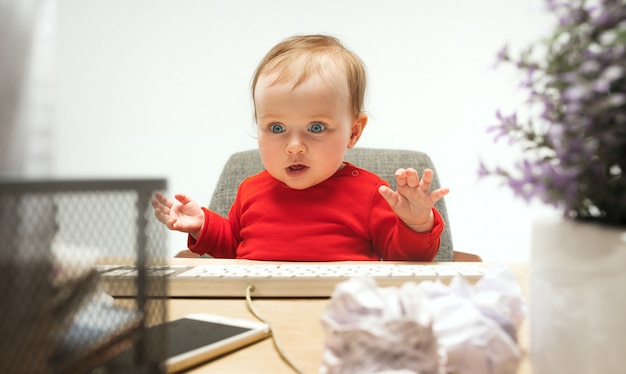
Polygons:
M152 199L154 215L170 230L186 232L197 239L204 224L202 208L186 195L177 194L174 197L176 201L157 192Z

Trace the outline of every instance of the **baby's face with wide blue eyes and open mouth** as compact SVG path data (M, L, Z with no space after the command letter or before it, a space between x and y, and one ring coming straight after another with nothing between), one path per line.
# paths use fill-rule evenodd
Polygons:
M312 76L293 87L261 75L255 89L261 158L269 173L294 189L312 187L343 167L367 117L352 114L347 82Z

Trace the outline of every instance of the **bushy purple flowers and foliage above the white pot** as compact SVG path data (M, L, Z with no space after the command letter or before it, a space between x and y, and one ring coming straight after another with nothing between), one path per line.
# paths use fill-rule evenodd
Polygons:
M496 112L487 131L522 151L509 171L489 169L526 201L563 209L575 219L626 226L626 2L546 0L559 25L541 40L545 56L530 46L519 57L505 46L499 63L517 67L527 93L528 119Z

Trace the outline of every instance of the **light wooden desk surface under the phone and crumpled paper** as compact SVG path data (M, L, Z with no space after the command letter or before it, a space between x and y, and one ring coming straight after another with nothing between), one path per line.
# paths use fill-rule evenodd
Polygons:
M182 259L177 259L177 263ZM189 261L189 259L186 259ZM193 260L191 260L193 261ZM187 262L185 262L187 263ZM490 266L491 264L483 264ZM509 264L522 292L528 296L528 264ZM324 349L324 331L320 317L328 299L253 299L258 311L274 327L274 332L287 354L305 373L318 373ZM255 320L241 299L170 299L170 319L190 313L213 313ZM528 325L519 331L523 358L518 374L529 374ZM189 373L293 373L276 352L271 338L199 366Z

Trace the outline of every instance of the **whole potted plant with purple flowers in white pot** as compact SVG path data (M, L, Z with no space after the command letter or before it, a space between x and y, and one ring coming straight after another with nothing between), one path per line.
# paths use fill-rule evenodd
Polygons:
M561 219L533 226L534 373L616 373L626 347L626 2L546 0L547 37L499 63L523 76L525 116L488 131L518 147L513 167L481 162L517 196Z

